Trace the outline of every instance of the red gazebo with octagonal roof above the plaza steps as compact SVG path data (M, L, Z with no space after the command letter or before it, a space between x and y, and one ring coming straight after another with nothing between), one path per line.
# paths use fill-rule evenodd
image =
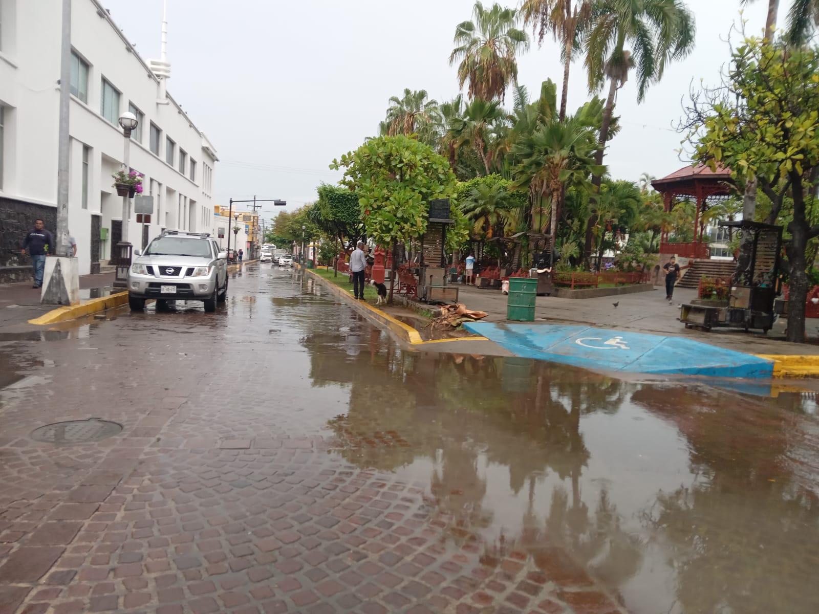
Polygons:
M683 258L708 258L708 239L703 237L701 219L709 205L722 201L734 193L731 169L717 165L711 170L707 165L686 166L661 179L651 182L657 192L663 194L665 210L671 211L678 202L695 200L697 213L694 218L694 241L669 243L668 233L660 237L660 255L678 255Z

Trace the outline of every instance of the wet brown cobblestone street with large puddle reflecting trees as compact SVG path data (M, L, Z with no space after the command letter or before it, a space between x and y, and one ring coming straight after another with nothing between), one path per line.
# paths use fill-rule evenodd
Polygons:
M267 264L0 372L0 614L819 612L815 393L403 350Z

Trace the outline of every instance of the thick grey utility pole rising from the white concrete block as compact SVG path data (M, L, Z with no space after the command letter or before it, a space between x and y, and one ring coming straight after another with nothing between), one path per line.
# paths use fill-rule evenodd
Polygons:
M57 245L56 255L70 256L68 245L68 173L70 164L69 114L71 107L71 0L62 0L60 43L60 125L57 149Z

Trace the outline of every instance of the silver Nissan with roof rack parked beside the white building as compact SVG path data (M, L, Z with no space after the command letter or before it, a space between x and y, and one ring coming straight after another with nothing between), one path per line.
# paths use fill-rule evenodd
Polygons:
M228 254L209 233L165 232L137 256L128 273L128 304L145 300L201 300L208 312L228 296Z

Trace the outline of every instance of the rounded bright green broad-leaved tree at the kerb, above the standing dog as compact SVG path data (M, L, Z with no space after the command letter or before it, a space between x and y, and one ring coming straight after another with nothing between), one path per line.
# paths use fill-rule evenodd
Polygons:
M428 202L455 196L457 180L446 158L432 147L403 134L369 139L355 151L333 160L344 168L342 184L359 196L364 227L378 245L392 246L418 239L427 230ZM452 207L455 228L450 246L463 241L468 223ZM393 269L396 259L393 258ZM391 276L391 280L395 279ZM390 300L392 300L392 282Z

